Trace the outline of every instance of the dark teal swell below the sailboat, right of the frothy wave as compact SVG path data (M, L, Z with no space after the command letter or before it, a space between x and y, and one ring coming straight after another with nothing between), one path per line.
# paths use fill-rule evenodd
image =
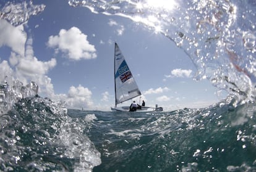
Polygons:
M255 104L232 107L95 112L93 171L255 171Z

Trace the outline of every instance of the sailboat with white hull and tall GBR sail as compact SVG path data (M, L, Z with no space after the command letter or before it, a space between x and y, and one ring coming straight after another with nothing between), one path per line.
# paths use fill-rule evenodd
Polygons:
M114 46L114 91L116 105L111 107L114 111L130 111L129 106L117 105L142 95L117 43ZM136 112L150 111L163 111L163 108L158 105L155 107L139 106Z

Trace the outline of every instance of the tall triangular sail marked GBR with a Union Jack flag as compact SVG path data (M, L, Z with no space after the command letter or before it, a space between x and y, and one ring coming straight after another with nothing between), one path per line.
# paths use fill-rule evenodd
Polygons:
M115 43L114 47L114 84L116 105L141 95L117 43Z

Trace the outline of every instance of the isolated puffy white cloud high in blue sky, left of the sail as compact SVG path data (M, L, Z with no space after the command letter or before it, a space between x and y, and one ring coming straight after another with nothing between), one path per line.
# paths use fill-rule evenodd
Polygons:
M56 52L67 53L69 59L95 59L96 49L87 40L79 28L72 27L69 30L60 30L59 35L49 36L48 46L55 48Z

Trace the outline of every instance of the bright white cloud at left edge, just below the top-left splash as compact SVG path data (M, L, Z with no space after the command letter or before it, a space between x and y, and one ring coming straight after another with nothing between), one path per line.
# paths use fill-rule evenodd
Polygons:
M6 20L0 19L0 47L9 46L12 51L24 55L26 33L23 31L23 25L14 27Z

